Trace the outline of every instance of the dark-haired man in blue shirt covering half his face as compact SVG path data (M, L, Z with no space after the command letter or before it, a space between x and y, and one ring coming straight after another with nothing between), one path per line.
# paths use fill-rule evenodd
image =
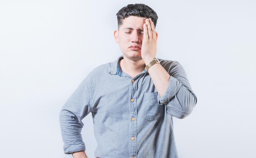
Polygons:
M87 158L81 120L92 113L97 158L177 158L172 117L188 116L197 101L186 73L177 61L155 58L153 9L130 4L117 20L123 56L90 72L63 106L64 151Z

